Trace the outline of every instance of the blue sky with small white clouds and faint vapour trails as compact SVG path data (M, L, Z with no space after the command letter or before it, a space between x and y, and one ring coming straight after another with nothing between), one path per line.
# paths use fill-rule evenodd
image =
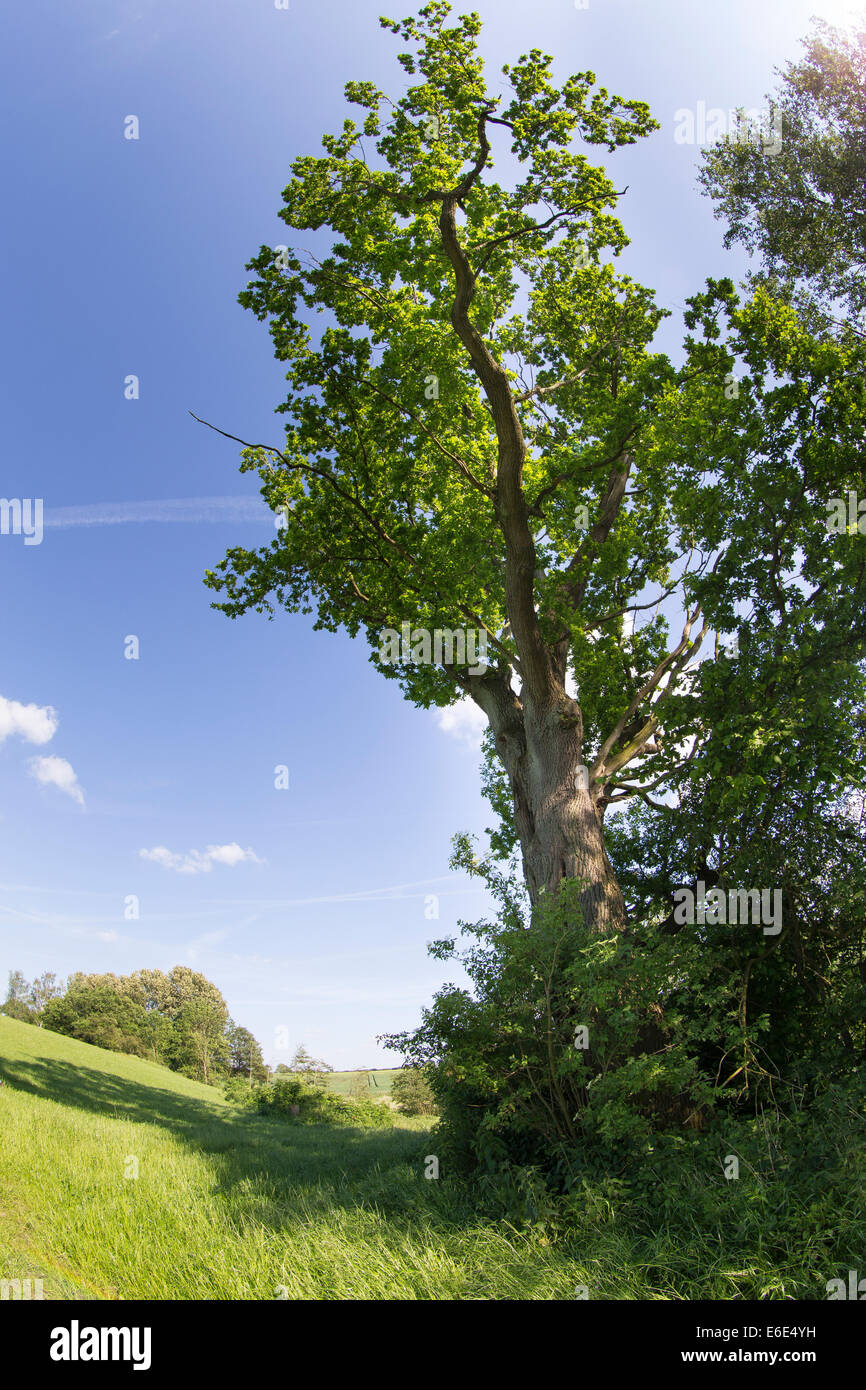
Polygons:
M470 7L491 74L535 46L651 103L662 131L609 165L630 189L623 270L674 310L742 274L674 113L762 106L809 17L845 21L844 0ZM0 58L0 493L44 505L42 543L0 535L0 983L190 965L274 1063L285 1030L335 1066L393 1065L377 1033L459 979L427 941L484 905L448 869L452 835L489 823L473 721L414 710L311 619L229 621L202 582L272 518L188 411L279 443L243 265L285 239L289 161L341 125L343 82L400 86L384 8L28 0ZM674 317L660 342L680 336Z

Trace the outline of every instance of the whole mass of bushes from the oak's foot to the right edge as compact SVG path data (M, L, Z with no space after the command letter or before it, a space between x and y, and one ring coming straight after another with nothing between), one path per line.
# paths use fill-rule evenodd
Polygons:
M783 805L767 834L740 847L759 876L751 881L781 874L787 884L778 937L664 916L670 856L688 862L688 834L708 828L701 806L687 803L673 831L649 810L632 817L637 828L619 827L623 881L638 897L630 926L606 937L581 924L577 884L530 912L516 878L457 837L452 866L482 877L499 913L463 924L470 947L448 938L431 954L460 960L471 991L445 987L417 1030L382 1041L425 1069L439 1152L474 1175L484 1200L516 1220L549 1225L559 1213L567 1226L573 1207L560 1208L557 1193L585 1183L598 1193L609 1180L632 1194L698 1184L720 1150L748 1152L770 1186L803 1145L813 1168L826 1166L827 1106L844 1116L863 1086L866 856L849 809L812 816L808 844L784 838ZM745 862L731 860L721 881L738 883ZM710 1207L716 1220L721 1197ZM787 1218L783 1226L790 1233Z

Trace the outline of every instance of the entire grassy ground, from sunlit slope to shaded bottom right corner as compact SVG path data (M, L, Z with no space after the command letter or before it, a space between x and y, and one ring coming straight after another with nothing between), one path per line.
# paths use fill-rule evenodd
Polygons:
M737 1183L713 1141L528 1225L425 1180L427 1119L286 1125L3 1016L0 1076L0 1279L40 1277L46 1298L809 1300L866 1273L866 1145L844 1108L822 1134L795 1126L788 1156L756 1131Z

